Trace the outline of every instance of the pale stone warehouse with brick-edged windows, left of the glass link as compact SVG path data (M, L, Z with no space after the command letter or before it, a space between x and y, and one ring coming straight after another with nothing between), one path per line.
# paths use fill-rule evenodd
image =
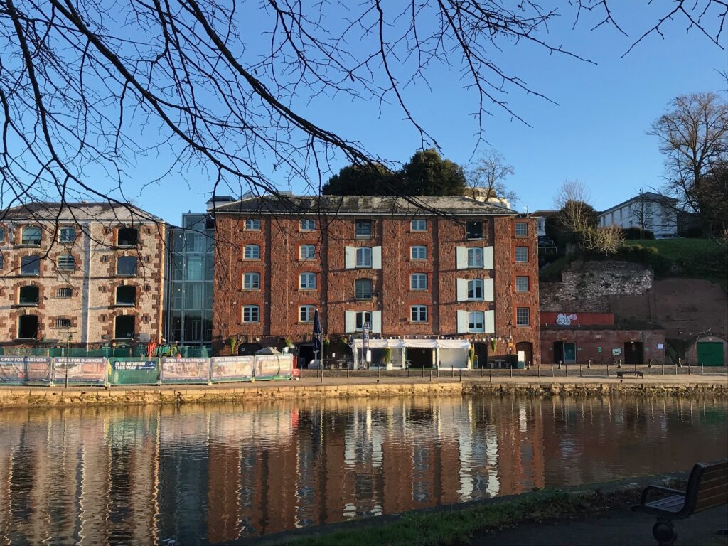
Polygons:
M6 210L0 344L65 346L68 333L76 347L161 341L165 232L159 218L131 205Z

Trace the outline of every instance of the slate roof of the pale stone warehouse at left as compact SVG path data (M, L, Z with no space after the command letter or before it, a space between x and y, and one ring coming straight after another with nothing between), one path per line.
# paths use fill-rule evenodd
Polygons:
M115 202L31 202L1 211L0 220L163 222L135 205Z

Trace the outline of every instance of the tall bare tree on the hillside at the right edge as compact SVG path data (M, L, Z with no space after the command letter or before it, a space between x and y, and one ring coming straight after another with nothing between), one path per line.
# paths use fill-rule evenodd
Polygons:
M669 108L648 131L665 154L665 191L678 199L679 210L700 214L712 230L721 220L713 218L711 203L720 197L715 173L728 163L728 102L713 92L692 93Z

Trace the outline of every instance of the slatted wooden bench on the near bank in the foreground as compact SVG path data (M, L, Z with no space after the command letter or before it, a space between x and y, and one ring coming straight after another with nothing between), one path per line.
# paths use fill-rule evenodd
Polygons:
M667 494L662 499L647 502L651 491ZM687 490L679 491L661 486L647 486L642 491L638 505L632 507L633 512L657 516L657 523L652 527L652 536L660 546L673 545L677 534L673 529L673 520L688 518L690 515L708 510L728 502L728 459L712 463L697 463L690 472Z

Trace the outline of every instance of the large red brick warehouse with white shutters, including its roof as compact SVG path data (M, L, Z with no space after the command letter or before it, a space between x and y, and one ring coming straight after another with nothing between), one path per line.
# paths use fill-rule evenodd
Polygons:
M463 340L480 363L539 359L531 218L462 196L248 197L210 212L218 350L229 336L288 339L310 360L318 309L324 334L349 346L370 323L372 349L405 349L392 351L399 365L465 365Z

